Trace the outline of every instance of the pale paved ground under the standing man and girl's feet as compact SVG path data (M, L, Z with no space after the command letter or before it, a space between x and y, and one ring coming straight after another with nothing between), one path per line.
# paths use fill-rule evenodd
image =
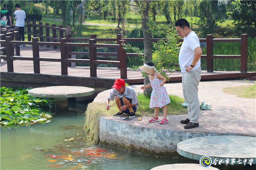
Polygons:
M159 125L159 123L148 123L148 117L142 121L137 119L126 121L127 124L138 125L148 128L169 129L176 131L199 131L211 133L228 133L236 135L256 136L256 99L242 98L236 95L226 94L223 88L240 85L252 85L245 80L226 80L226 81L202 81L199 84L199 100L204 100L212 105L212 109L200 114L199 127L185 130L181 119L186 119L187 115L168 115L169 123ZM143 92L142 85L131 85L136 92ZM169 94L183 98L181 83L166 83L165 87ZM105 102L110 90L99 93L94 102ZM112 108L113 109L113 108ZM113 109L113 113L116 110ZM113 119L109 117L109 119ZM195 136L194 136L195 137Z

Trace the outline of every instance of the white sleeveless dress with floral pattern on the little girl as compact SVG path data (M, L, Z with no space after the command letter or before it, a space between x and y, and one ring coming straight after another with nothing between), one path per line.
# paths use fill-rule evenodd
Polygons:
M149 107L150 108L154 108L154 107L159 107L162 108L164 107L166 104L171 103L170 101L170 97L166 91L165 86L160 86L160 83L162 82L162 80L157 78L157 74L155 74L155 78L154 80L150 80L150 84L152 87L152 93L151 93L151 98L150 98L150 104Z

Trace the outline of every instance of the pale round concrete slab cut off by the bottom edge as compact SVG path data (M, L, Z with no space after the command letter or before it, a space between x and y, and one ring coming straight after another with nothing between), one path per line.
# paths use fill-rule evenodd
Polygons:
M171 170L171 169L175 169L175 170L217 170L218 168L215 167L207 167L204 168L202 167L199 163L198 164L194 164L194 163L176 163L176 164L169 164L169 165L161 165L161 166L157 166L152 168L151 170Z

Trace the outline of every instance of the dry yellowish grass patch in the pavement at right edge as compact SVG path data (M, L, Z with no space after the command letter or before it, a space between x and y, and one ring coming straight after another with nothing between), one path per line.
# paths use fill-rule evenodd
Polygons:
M256 98L256 83L254 85L235 86L224 88L223 92L236 94L237 97Z

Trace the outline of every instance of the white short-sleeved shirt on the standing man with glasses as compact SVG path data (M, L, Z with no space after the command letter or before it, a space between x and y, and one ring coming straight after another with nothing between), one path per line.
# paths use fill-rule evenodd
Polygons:
M179 53L179 65L181 72L186 72L186 66L190 66L194 59L194 50L196 47L200 47L199 39L194 31L189 32L187 36L184 37L184 41L180 47ZM192 70L195 70L201 66L201 59L197 61L195 67Z

